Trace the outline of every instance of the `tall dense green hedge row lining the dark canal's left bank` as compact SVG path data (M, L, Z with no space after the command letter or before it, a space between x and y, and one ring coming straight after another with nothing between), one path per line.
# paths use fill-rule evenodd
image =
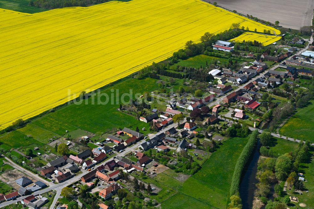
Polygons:
M257 135L258 135L258 131L257 130L253 131L253 133L251 134L249 138L249 141L246 143L245 147L242 150L242 153L240 154L240 157L238 158L236 162L235 171L233 172L232 181L231 181L230 196L239 194L239 186L240 186L242 170L251 156L251 153L257 142Z

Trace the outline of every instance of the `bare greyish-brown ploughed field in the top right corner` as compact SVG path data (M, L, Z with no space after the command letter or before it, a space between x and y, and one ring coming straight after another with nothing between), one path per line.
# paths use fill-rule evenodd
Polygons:
M272 23L278 20L280 26L291 29L311 25L314 9L313 0L215 0L215 2L218 6L231 11L236 10L244 15L249 14Z

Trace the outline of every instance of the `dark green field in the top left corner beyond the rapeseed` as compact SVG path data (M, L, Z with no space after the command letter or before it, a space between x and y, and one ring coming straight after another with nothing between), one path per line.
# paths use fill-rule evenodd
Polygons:
M29 2L29 0L0 0L0 8L24 13L37 13L48 10L44 8L28 6Z

